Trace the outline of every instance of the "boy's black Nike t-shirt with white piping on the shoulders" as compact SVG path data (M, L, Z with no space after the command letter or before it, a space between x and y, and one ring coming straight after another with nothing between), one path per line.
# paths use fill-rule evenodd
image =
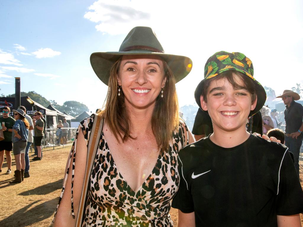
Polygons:
M171 206L195 211L196 226L277 226L276 215L303 212L287 149L254 135L233 148L209 137L188 145L179 152L180 185Z

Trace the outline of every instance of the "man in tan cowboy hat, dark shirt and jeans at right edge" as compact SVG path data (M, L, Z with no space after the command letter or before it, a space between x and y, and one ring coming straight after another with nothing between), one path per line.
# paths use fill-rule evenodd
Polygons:
M303 138L303 106L296 103L295 100L299 100L300 95L292 90L284 90L283 94L277 96L277 98L282 98L286 105L284 111L285 146L294 155L295 168L299 176L299 154Z

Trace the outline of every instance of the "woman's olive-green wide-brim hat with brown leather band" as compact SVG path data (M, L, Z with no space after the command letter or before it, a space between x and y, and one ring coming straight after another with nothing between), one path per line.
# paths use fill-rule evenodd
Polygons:
M139 54L160 56L170 67L176 82L181 81L186 77L192 68L192 61L190 58L180 55L165 54L155 32L149 27L133 28L122 42L118 52L92 53L90 62L99 79L104 84L108 85L112 65L123 55Z

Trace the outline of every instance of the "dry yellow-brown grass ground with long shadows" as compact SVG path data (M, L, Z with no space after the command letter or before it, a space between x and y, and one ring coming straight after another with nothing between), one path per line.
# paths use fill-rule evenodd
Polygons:
M13 159L12 174L6 175L6 161L0 174L1 211L0 226L49 227L62 189L62 178L68 153L71 146L55 150L43 150L42 161L32 161L30 157L30 174L20 184L11 185L15 162ZM32 153L30 153L31 155ZM13 155L12 155L13 156ZM303 179L303 162L301 161L301 179ZM302 183L301 183L302 184ZM171 210L174 223L178 214ZM303 216L301 215L303 223Z

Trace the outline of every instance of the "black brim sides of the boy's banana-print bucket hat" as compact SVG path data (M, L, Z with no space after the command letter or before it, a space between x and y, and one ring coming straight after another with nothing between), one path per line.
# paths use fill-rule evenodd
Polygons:
M200 97L201 97L201 94L202 94L202 90L203 90L203 87L204 87L204 83L205 83L205 80L207 79L203 79L197 86L196 90L195 90L195 100L196 100L196 103L198 104L198 106L202 109L201 107L201 102L200 102ZM261 110L261 108L263 107L265 101L266 101L266 92L264 90L264 87L262 87L262 85L254 80L255 84L256 84L256 95L257 95L257 104L256 104L256 107L254 110L251 110L248 117L254 115L255 113L257 113L259 110ZM206 110L203 110L204 112L208 113L208 111Z

